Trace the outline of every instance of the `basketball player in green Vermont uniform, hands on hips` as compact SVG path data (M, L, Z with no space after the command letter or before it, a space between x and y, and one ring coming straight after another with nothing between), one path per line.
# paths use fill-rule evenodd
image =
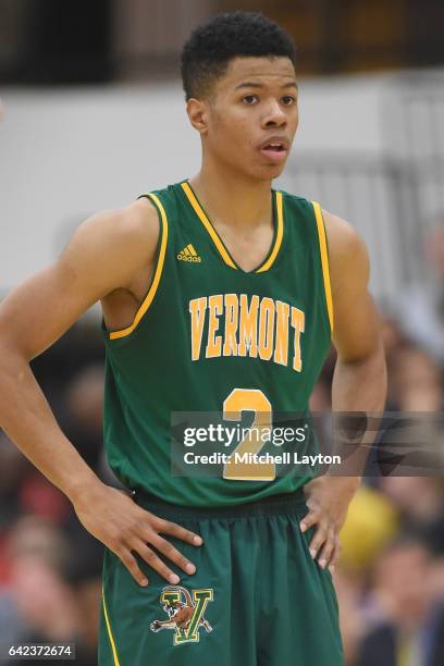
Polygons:
M384 404L361 239L271 187L298 124L295 62L260 14L198 28L182 74L199 173L87 220L1 306L1 425L107 546L101 666L343 664L331 569L358 479L230 460L184 477L170 460L172 412L307 414L331 341L333 409ZM106 447L135 494L81 459L28 365L97 300Z

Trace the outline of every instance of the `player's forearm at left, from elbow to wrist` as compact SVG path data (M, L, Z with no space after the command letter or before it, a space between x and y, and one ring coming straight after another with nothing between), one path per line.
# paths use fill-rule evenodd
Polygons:
M57 423L27 361L1 345L0 427L72 502L100 483Z

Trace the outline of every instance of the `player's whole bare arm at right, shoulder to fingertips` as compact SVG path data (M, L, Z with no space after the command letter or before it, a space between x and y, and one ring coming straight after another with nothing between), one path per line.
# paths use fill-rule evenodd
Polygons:
M323 215L337 351L332 409L379 414L385 404L386 373L379 314L368 291L367 248L348 223L326 211ZM322 567L334 568L338 534L359 482L359 476L324 476L305 486L309 513L300 525L303 530L317 526L310 552Z

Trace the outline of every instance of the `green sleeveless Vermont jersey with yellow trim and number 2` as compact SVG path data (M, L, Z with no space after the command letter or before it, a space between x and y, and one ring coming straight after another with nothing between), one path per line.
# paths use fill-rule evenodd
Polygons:
M273 431L275 415L308 415L331 346L319 205L271 190L273 242L261 264L246 272L187 181L145 196L160 224L151 285L130 326L107 331L102 322L111 469L127 488L177 505L223 506L297 490L314 472L301 473L292 464L280 473L262 454L273 449L282 456L285 449L293 456L304 453L307 442L298 437L276 451L262 435ZM247 415L250 429L219 444L211 473L177 473L175 412L219 414L232 427ZM192 464L192 446L180 445Z

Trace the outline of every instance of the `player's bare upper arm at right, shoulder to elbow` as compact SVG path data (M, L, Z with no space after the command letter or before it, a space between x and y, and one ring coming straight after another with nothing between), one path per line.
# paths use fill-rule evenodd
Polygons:
M323 211L329 242L334 331L343 361L366 358L381 344L380 317L368 291L367 247L350 224Z

